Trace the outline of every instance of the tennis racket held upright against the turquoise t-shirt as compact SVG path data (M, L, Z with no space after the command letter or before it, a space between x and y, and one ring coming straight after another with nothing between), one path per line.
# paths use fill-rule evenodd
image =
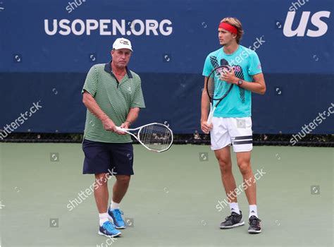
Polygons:
M216 110L216 107L218 104L228 96L228 93L233 88L232 83L226 83L225 80L221 80L221 76L225 71L230 71L230 67L224 65L224 66L218 66L214 68L213 71L209 74L209 76L206 78L206 92L209 95L210 99L210 113L208 116L207 123L212 123L212 117L214 116L214 112Z

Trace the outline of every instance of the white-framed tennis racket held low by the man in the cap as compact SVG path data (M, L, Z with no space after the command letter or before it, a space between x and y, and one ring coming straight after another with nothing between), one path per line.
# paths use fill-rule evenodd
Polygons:
M171 128L168 128L168 126L162 123L149 123L138 128L116 128L118 131L132 135L140 144L150 151L167 151L173 143L173 132ZM132 133L132 131L136 133Z

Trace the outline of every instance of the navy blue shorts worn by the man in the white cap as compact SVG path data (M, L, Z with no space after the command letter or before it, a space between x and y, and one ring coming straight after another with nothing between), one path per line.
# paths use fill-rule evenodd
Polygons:
M82 150L85 152L83 174L134 174L132 143L99 143L85 139Z

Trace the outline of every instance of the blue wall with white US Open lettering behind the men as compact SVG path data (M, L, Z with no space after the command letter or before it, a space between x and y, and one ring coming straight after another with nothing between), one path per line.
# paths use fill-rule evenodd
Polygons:
M82 132L85 75L93 64L109 61L116 37L127 37L135 51L129 67L142 77L147 104L137 125L168 121L175 133L193 133L199 130L204 59L219 47L221 18L237 16L245 29L242 45L256 49L267 84L266 95L253 94L254 133L297 133L334 103L331 12L333 1L324 0L4 0L0 128L40 100L42 108L16 131ZM68 25L51 35L54 20L57 26L77 23L77 35ZM333 126L328 115L312 133L333 133Z

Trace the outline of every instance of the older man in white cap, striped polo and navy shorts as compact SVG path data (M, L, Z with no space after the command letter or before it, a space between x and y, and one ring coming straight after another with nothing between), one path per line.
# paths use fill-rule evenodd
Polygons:
M134 174L132 140L116 126L129 128L145 107L140 77L128 69L131 55L130 40L118 38L111 50L112 60L92 66L82 89L82 102L87 107L83 174L95 176L99 234L104 236L120 236L118 229L125 229L119 204ZM110 175L116 176L116 182L108 207Z

